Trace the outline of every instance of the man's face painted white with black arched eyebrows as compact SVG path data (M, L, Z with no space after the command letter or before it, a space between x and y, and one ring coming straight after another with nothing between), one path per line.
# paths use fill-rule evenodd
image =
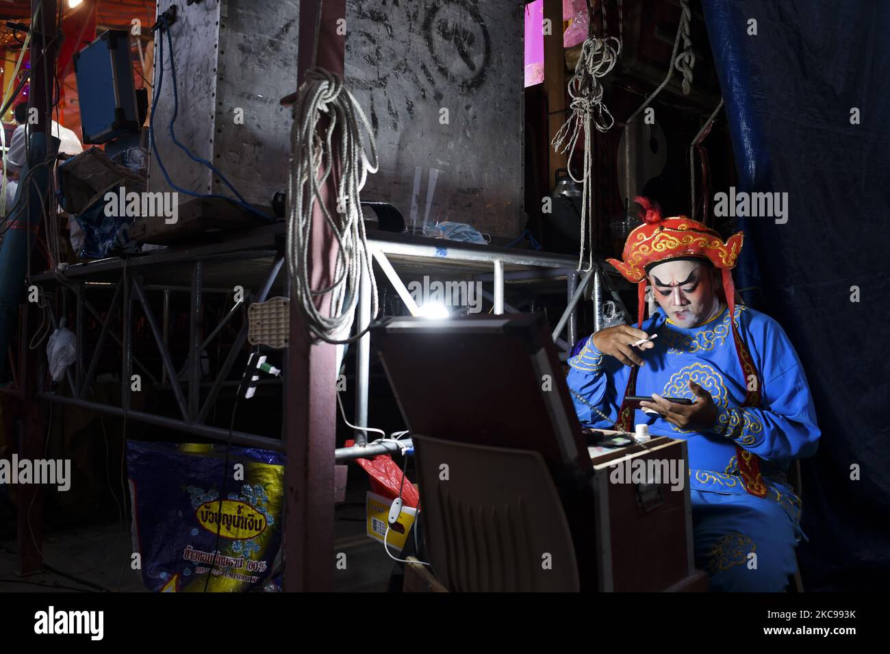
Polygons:
M680 327L698 327L720 312L711 270L700 262L668 261L649 271L655 299L667 318Z

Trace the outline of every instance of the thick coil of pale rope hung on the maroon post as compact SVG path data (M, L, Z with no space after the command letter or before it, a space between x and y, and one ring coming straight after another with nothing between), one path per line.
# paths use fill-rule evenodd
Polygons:
M359 198L368 173L377 171L373 133L359 103L344 88L343 80L324 69L306 72L293 115L287 192L287 271L297 307L310 334L326 343L352 343L367 328L349 339L336 339L348 334L352 326L362 269L367 270L371 285L372 320L378 309L376 280L368 256ZM364 146L365 133L370 143L369 153ZM339 174L337 210L331 214L321 190L335 165ZM336 241L334 281L330 287L320 289L312 288L309 268L316 205ZM322 315L316 300L328 294L330 308L328 315Z

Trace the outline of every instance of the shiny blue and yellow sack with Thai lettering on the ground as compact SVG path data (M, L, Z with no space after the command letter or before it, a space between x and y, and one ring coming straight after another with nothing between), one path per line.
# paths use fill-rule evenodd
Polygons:
M233 447L223 470L225 458L222 445L127 441L134 548L150 591L278 590L284 456Z

